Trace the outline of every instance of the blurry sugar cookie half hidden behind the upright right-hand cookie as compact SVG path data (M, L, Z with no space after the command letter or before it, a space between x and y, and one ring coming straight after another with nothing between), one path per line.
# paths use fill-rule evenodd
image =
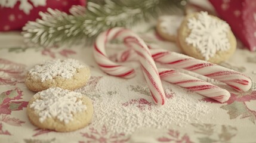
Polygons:
M167 41L175 42L178 27L180 27L183 18L183 15L164 15L159 17L156 25L158 34Z

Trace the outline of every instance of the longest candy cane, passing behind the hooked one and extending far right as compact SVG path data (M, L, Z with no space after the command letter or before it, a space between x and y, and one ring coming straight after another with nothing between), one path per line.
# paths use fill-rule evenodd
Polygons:
M239 92L246 92L252 86L251 79L248 76L245 76L245 74L227 69L226 67L218 66L217 64L159 48L150 49L150 53L152 54L153 59L158 63L165 64L169 67L190 70L203 76L219 80ZM117 61L136 59L129 49L119 53L116 58Z

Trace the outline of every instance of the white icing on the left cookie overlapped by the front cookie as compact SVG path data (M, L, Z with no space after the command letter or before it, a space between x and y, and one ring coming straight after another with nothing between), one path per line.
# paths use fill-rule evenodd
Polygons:
M42 82L54 79L57 76L69 79L76 73L77 69L84 67L78 60L70 58L66 60L48 60L30 69L29 74L39 78Z

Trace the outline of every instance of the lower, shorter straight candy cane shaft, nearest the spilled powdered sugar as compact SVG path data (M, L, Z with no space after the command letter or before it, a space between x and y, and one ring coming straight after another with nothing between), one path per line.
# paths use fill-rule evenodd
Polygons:
M194 91L204 97L209 97L219 102L226 102L230 98L229 91L188 74L180 73L173 69L158 69L158 72L162 80Z

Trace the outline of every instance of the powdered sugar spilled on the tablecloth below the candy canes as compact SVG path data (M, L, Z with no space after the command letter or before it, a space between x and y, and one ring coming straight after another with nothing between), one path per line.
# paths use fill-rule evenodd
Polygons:
M92 76L91 80L93 78L97 77ZM92 86L90 84L95 84L94 89L88 89ZM211 111L208 103L199 101L201 95L169 83L164 83L164 89L168 98L165 105L158 106L153 103L143 74L139 71L132 79L104 76L77 91L93 101L91 126L106 126L115 133L131 134L139 128L168 129L172 125L202 123L201 117Z

